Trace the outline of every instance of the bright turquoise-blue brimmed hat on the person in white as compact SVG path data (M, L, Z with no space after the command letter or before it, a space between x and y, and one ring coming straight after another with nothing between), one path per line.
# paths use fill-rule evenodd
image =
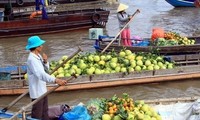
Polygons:
M28 39L28 43L26 45L26 50L30 50L31 48L39 47L44 44L45 41L40 39L39 36L32 36Z

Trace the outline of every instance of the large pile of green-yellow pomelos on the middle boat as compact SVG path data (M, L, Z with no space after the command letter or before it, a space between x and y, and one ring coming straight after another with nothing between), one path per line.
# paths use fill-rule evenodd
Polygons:
M50 62L50 70L61 64L67 56L63 56L58 61ZM70 61L60 67L52 75L55 77L69 77L72 74L92 75L109 74L143 70L172 69L174 63L166 61L163 56L152 53L132 53L123 49L119 53L115 51L109 53L85 53L76 55Z

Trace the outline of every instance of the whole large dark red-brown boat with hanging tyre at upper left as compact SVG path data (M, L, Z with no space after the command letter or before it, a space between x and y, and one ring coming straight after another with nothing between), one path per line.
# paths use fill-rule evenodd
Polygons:
M4 15L8 21L0 22L0 38L105 27L109 11L101 8L104 2L48 6L46 19L42 19L40 13L43 12L32 11L35 7L27 8L27 12L25 9L15 10L12 17Z

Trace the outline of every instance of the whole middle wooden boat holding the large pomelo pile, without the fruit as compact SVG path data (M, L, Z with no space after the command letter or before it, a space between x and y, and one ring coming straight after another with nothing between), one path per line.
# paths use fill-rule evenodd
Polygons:
M69 91L80 89L93 89L101 87L112 87L121 85L161 83L166 81L183 81L188 79L200 78L200 57L194 55L177 55L172 59L179 64L174 69L160 69L153 71L113 73L91 76L79 76L68 83L67 86L61 86L56 91ZM12 66L0 69L0 73L10 73L10 78L0 80L0 95L22 94L27 91L27 81L24 80L26 66ZM68 78L65 78L68 79ZM48 88L54 88L55 84L49 84Z

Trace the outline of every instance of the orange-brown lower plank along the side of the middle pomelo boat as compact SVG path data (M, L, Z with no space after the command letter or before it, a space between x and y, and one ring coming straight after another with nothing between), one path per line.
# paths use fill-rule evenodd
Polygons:
M159 83L167 81L183 81L187 79L200 78L200 72L197 73L179 73L173 75L157 75L152 77L136 77L136 78L120 78L120 79L104 79L99 81L88 81L82 83L69 83L67 86L61 86L56 91L69 91L69 90L81 90L81 89L93 89L101 87L112 87L121 85L133 85L133 84L147 84L147 83ZM54 86L48 86L51 89ZM0 88L0 95L14 95L21 94L26 91L27 87L3 89Z

